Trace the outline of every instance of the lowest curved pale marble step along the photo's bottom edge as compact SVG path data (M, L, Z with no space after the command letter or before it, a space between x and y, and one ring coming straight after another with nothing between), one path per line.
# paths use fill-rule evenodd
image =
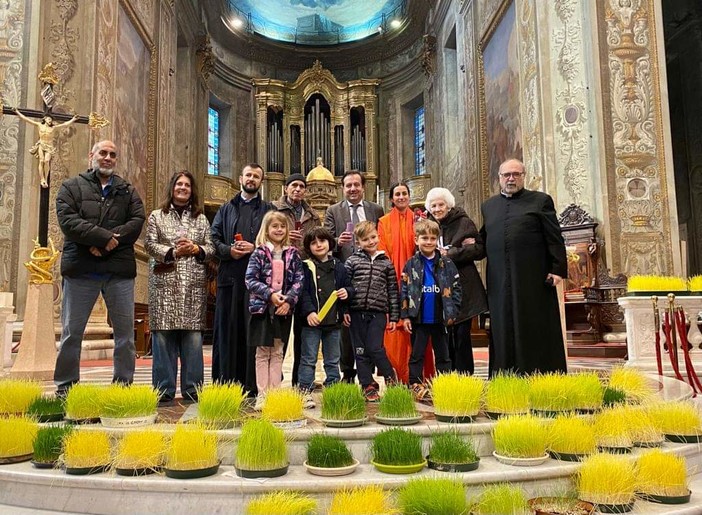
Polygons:
M695 452L699 453L699 450ZM481 460L473 472L451 475L466 485L466 497L476 498L486 485L497 482L519 484L528 497L564 491L573 485L577 464L548 461L537 467L512 467L493 458ZM411 478L447 477L429 469L412 475L389 475L363 464L349 476L312 476L293 465L279 478L239 478L233 467L223 465L217 475L194 480L176 480L162 475L124 478L112 473L68 476L60 470L40 471L28 463L0 467L0 504L60 510L73 513L243 513L251 498L276 490L296 490L317 498L324 513L336 490L360 485L382 485L397 489ZM691 477L692 500L682 506L660 506L637 501L635 513L702 513L702 475Z

